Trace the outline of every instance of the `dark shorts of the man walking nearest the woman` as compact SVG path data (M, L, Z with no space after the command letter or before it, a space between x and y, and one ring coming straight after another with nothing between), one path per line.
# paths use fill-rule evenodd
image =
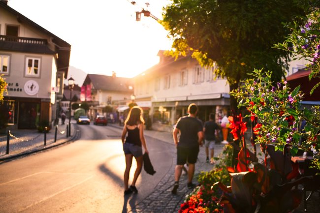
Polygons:
M177 147L177 165L184 165L185 163L192 163L196 162L198 157L199 147Z

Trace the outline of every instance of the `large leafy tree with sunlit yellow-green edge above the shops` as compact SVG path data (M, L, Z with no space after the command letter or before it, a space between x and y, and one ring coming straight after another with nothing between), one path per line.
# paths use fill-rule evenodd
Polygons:
M162 25L169 30L178 57L192 54L200 65L219 66L214 72L226 77L230 91L255 68L273 71L279 81L288 67L288 52L272 49L285 41L283 23L305 16L308 0L173 0L164 8ZM230 98L230 107L237 111Z

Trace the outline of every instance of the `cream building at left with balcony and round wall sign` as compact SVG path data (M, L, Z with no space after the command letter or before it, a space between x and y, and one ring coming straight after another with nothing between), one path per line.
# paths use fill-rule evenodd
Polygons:
M36 128L55 119L70 48L0 0L0 74L8 83L2 105L10 128Z

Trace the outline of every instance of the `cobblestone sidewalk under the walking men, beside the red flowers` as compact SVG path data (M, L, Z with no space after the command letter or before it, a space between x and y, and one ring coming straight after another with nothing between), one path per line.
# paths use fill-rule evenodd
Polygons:
M116 128L123 128L119 124L108 124ZM155 131L144 130L146 140L148 137L155 138L159 141L165 142L168 146L174 146L172 133L168 131ZM224 144L215 145L214 156L217 157L223 150ZM175 150L175 149L172 149ZM173 156L176 156L174 151ZM175 158L174 158L175 162ZM173 163L169 172L162 178L160 183L157 184L155 190L138 203L134 209L128 213L177 213L180 209L180 205L184 202L186 195L192 192L192 189L187 187L187 175L181 175L178 192L176 195L171 194L171 190L174 184L174 168L176 164ZM206 155L204 147L200 147L198 159L195 164L195 172L193 183L197 183L196 176L201 171L210 171L213 169L212 164L206 163Z

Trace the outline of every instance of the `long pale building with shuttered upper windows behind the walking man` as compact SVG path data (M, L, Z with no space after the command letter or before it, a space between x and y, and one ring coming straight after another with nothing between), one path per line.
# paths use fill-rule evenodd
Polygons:
M200 120L213 112L219 122L229 110L229 85L213 74L217 67L201 67L191 56L175 61L163 53L158 53L159 64L134 77L136 103L148 110L153 125L172 127L191 103L198 105Z

